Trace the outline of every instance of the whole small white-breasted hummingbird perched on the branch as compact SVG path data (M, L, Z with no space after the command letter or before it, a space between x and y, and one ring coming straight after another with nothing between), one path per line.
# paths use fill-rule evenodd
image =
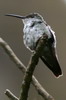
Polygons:
M48 37L47 43L43 48L40 59L44 64L53 72L58 78L62 75L62 70L58 62L56 52L56 36L52 28L46 23L39 13L30 13L26 16L6 14L6 16L16 17L22 20L23 28L23 41L25 46L34 52L39 39L46 35Z

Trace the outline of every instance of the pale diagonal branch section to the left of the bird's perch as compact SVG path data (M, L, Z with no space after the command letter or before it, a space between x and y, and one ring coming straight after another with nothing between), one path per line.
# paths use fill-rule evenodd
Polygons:
M23 73L26 70L26 67L24 64L17 58L13 50L10 48L10 46L2 39L0 38L0 46L2 46L5 50L5 52L8 54L10 59L17 65L17 68L19 68Z

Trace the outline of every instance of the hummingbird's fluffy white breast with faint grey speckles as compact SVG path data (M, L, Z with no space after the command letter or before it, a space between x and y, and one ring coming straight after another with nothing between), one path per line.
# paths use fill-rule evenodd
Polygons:
M37 40L43 35L47 34L48 38L51 38L49 27L44 23L37 24L34 27L30 27L30 23L24 26L24 44L27 48L34 50Z

